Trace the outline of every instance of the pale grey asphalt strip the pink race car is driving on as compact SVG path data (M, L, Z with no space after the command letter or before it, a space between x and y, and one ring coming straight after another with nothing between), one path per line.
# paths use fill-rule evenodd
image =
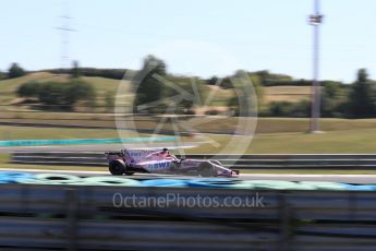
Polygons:
M44 172L44 174L64 174L76 175L81 177L93 176L111 176L108 171L75 171L75 170L44 170L44 169L10 169L0 168L7 171L24 171L24 172ZM174 179L192 179L195 176L174 176L174 175L149 175L149 174L135 174L133 176L122 176L123 178L132 179L157 179L157 178L174 178ZM238 178L240 180L284 180L284 181L331 181L331 182L345 182L345 183L376 183L376 175L280 175L280 174L244 174Z

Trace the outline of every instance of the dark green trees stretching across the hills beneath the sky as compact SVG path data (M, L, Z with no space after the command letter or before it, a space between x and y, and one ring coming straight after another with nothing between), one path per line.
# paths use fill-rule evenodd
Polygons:
M47 82L47 83L25 83L20 86L17 94L22 97L37 98L45 105L61 105L68 109L74 109L75 104L80 101L95 100L96 92L94 87L84 82L80 76L102 76L108 79L121 80L124 70L121 69L94 69L81 68L77 62L73 63L71 69L47 70L52 73L70 74L69 83ZM193 107L197 99L170 100L168 97L178 95L175 88L168 86L168 82L179 83L179 86L187 93L194 93L191 80L194 79L198 91L203 91L205 85L216 85L220 81L220 87L223 89L233 89L236 86L234 79L240 73L226 77L213 76L208 80L199 77L175 76L167 72L167 65L154 56L148 56L144 60L144 65L135 75L138 84L134 86L134 107L135 112L165 112L169 107L173 107L178 113L194 113ZM1 77L19 77L25 75L27 71L17 63L13 63L8 73L0 73ZM258 104L260 105L259 116L262 117L296 117L304 118L311 116L311 101L271 101L263 104L263 88L267 86L311 86L312 81L294 80L284 74L272 74L268 71L245 72L252 80L256 89ZM158 76L158 77L156 77ZM356 80L352 84L344 84L335 81L322 81L320 100L322 116L327 118L376 118L376 82L369 80L367 71L360 69ZM201 92L199 92L201 93ZM202 94L201 94L202 95ZM107 95L108 96L108 95ZM199 98L204 98L198 97ZM113 97L106 97L113 106ZM161 101L158 101L161 100ZM165 100L165 101L163 101ZM157 103L157 105L155 105ZM92 101L93 104L93 101ZM154 104L145 108L145 104ZM142 107L144 105L144 108ZM239 104L236 97L227 101L227 106L238 115ZM143 109L138 109L138 108ZM215 113L215 112L213 112Z

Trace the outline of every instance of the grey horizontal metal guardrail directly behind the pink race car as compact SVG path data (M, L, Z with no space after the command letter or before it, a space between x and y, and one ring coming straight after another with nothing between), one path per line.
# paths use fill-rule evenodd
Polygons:
M251 154L186 155L186 158L215 158L235 169L369 169L376 170L375 154ZM107 166L102 153L13 153L12 163L37 165ZM234 164L233 164L234 163Z

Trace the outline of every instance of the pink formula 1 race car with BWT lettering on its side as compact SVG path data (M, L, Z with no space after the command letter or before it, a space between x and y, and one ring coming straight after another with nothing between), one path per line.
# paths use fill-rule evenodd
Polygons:
M223 167L218 160L179 159L167 148L122 150L106 153L111 175L133 175L135 172L165 175L194 175L201 177L238 177L239 170Z

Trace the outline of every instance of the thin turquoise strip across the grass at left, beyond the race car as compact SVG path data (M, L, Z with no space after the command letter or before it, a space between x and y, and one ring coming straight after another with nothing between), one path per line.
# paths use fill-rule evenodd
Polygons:
M171 142L174 136L124 138L124 139L77 139L77 140L14 140L0 141L0 147L39 146L39 145L82 145L82 144L121 144L142 142Z

